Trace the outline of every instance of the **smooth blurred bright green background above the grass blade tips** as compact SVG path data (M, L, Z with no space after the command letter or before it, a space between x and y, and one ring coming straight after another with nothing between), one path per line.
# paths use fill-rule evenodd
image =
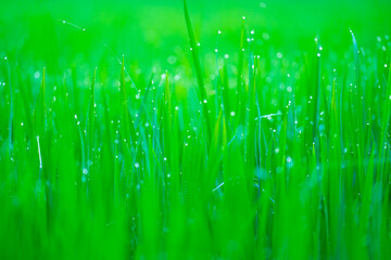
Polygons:
M240 21L268 41L276 51L305 51L320 37L327 49L346 50L349 28L358 46L374 47L376 37L390 32L391 1L189 1L201 54L213 53L217 30L219 49L237 52ZM86 29L63 24L73 23ZM166 69L167 58L189 48L182 1L9 1L0 9L0 53L18 61L25 69L53 65L60 72L75 65L97 66L116 55L142 69ZM337 53L338 54L338 53ZM343 55L343 53L340 53ZM108 57L108 64L110 61ZM337 58L337 57L336 57Z

